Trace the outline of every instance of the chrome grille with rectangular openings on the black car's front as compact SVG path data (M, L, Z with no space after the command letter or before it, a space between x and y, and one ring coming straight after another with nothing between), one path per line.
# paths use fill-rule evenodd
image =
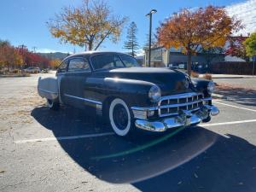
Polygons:
M203 105L202 93L183 93L173 96L162 96L159 102L159 115L165 117L176 115L181 110L195 111Z

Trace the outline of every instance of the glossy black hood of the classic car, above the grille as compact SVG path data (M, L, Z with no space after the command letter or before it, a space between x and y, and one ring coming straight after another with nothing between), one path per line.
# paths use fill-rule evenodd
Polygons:
M108 71L108 77L119 79L137 79L157 84L162 96L173 93L189 92L185 87L187 80L184 73L163 67L127 67Z

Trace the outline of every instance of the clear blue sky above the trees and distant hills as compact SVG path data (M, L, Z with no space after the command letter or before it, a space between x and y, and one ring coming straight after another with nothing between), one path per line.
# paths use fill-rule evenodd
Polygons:
M135 21L138 28L138 42L141 46L146 42L148 33L148 18L145 15L150 9L157 9L154 15L153 29L159 26L159 22L183 8L205 7L209 4L215 6L230 6L243 3L244 0L108 0L113 12L125 15L130 21ZM255 1L253 1L255 2ZM73 52L83 49L70 44L60 44L59 40L51 37L46 26L49 18L54 18L55 13L60 12L63 6L79 6L81 0L7 0L1 2L0 12L0 39L8 39L11 44L25 44L28 49L37 47L38 51L62 51ZM255 4L256 5L256 4ZM105 42L100 49L122 49L125 40L126 28L124 28L121 40L118 44Z

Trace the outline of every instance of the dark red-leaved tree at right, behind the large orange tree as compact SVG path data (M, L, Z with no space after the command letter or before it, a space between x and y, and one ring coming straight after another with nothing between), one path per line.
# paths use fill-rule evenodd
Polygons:
M246 40L246 37L230 37L228 38L229 47L225 50L225 55L237 56L245 61L249 61L247 56L246 47L243 42Z

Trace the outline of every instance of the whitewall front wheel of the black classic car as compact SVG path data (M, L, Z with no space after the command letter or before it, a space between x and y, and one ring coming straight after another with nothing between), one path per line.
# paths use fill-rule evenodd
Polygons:
M134 130L133 117L122 99L116 98L110 103L109 121L118 136L127 137Z

